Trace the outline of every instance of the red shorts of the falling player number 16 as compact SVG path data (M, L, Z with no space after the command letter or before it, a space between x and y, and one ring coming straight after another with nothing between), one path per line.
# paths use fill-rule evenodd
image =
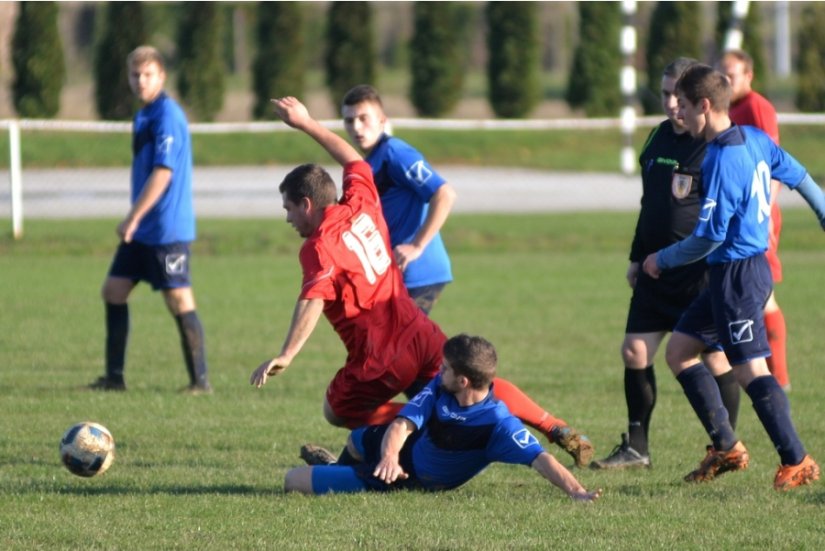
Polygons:
M391 401L415 381L433 379L441 369L447 337L437 325L432 327L432 333L414 337L392 358L368 358L373 368L375 364L384 366L377 378L362 380L359 375L363 365L360 364L347 364L339 369L327 387L327 403L332 412L347 420L366 419L378 406Z

